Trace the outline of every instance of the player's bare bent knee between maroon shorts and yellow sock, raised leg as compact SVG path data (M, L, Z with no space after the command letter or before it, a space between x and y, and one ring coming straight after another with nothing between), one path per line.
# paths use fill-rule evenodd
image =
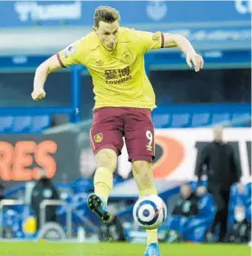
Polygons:
M115 171L117 165L117 154L111 149L102 149L96 153L97 167L105 167L111 172Z

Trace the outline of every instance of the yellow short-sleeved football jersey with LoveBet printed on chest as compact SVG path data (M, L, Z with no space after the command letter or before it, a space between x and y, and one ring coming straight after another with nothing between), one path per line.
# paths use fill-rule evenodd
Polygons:
M121 27L116 49L105 50L94 32L57 54L63 67L83 64L92 75L94 108L140 107L153 109L155 94L145 73L144 54L163 45L160 32Z

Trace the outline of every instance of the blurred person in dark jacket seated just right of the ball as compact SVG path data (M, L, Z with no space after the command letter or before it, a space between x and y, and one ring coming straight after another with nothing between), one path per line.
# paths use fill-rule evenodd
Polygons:
M199 213L199 197L192 191L189 184L180 188L180 196L172 215L190 217Z

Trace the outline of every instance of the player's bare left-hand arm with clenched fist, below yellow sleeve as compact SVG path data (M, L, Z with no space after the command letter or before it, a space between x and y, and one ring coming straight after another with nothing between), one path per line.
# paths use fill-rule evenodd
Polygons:
M37 67L34 76L34 92L32 93L34 101L44 99L44 84L48 74L51 74L61 68L62 65L60 64L57 55L53 55Z

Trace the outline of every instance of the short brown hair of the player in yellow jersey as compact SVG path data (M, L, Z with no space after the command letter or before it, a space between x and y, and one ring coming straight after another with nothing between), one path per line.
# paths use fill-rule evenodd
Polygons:
M93 15L94 26L98 27L99 22L113 23L115 21L120 22L119 12L109 6L99 6Z

